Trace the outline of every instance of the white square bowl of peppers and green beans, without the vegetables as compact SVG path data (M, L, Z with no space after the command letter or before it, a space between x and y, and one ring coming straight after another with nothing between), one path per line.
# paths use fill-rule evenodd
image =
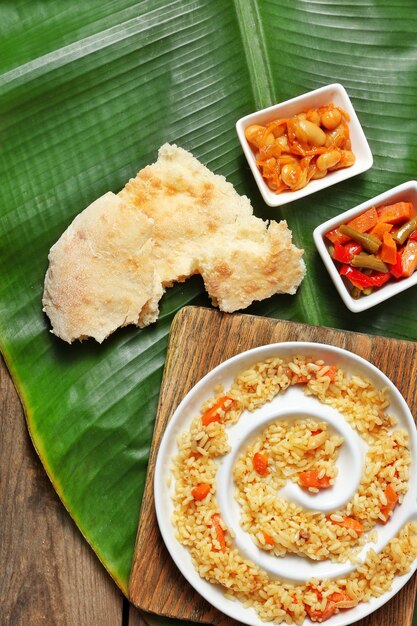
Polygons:
M353 219L357 215L360 215L360 213L363 213L372 206L378 207L401 201L412 202L414 207L417 209L417 181L410 180L402 185L393 187L385 193L381 193L379 196L371 198L353 209L345 211L345 213L341 213L331 220L320 224L320 226L317 226L313 232L314 243L316 244L317 250L323 259L327 271L329 272L343 302L346 304L348 309L353 311L353 313L360 313L361 311L370 309L376 304L380 304L381 302L384 302L384 300L388 300L388 298L395 296L397 293L417 285L417 271L408 278L401 278L398 281L396 280L394 282L385 283L385 285L376 289L369 296L362 296L358 300L355 300L349 293L347 279L340 276L339 270L330 256L329 246L331 245L331 242L326 240L324 235L329 232L329 230L333 230L333 228L337 228L341 224L346 224L346 222L349 222L349 220Z

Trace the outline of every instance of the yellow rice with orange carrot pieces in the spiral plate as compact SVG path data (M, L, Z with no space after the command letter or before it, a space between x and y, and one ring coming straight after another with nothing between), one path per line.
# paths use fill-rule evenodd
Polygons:
M178 438L174 459L172 523L194 567L228 598L253 607L261 620L302 624L325 621L391 587L417 556L417 524L407 523L381 552L368 549L364 562L344 578L290 583L271 576L244 557L216 500L220 458L230 451L228 427L244 410L255 412L291 385L337 409L367 444L358 489L343 508L324 514L289 502L279 490L292 481L310 494L337 485L337 456L343 438L325 421L300 416L269 424L238 457L233 477L240 523L260 550L312 560L357 559L379 524L389 523L408 489L408 434L387 413L387 389L361 376L348 376L323 361L298 356L269 358L240 373L230 389L201 407ZM256 415L256 414L255 414ZM254 418L255 418L254 415Z

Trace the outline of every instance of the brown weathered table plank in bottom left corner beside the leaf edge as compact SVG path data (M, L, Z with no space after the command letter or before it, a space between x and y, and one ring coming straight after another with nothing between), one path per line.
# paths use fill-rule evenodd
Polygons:
M2 626L122 625L123 596L55 494L0 361Z

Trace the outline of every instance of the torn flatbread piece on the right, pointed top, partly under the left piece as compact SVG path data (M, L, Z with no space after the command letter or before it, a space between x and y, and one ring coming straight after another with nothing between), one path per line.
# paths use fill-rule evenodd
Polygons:
M156 163L119 195L154 220L152 254L163 287L201 274L213 303L232 312L294 294L304 277L303 250L287 223L268 228L246 196L182 148L163 145Z

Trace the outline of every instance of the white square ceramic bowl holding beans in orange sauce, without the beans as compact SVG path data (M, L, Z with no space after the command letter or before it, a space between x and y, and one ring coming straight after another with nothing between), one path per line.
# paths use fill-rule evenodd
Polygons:
M311 180L306 187L299 189L298 191L283 191L279 194L274 193L266 184L262 177L262 174L256 165L255 155L250 147L246 137L245 130L252 124L265 125L280 117L292 117L297 113L302 113L311 108L317 108L325 104L333 102L337 106L342 107L350 116L349 130L350 139L352 143L352 152L356 157L355 163L351 167L346 167L334 172L330 172L324 178L318 180ZM255 177L256 183L259 187L259 191L262 194L263 199L269 206L281 206L288 202L294 202L305 196L321 191L330 185L339 183L342 180L356 176L365 172L372 167L373 158L371 149L365 137L365 133L362 130L362 126L358 120L352 103L347 95L345 88L338 83L332 85L326 85L309 91L297 98L292 98L286 102L281 102L267 109L256 111L242 117L236 123L236 131L239 137L239 141L242 145L243 152L248 160L249 167L252 170L252 174Z

